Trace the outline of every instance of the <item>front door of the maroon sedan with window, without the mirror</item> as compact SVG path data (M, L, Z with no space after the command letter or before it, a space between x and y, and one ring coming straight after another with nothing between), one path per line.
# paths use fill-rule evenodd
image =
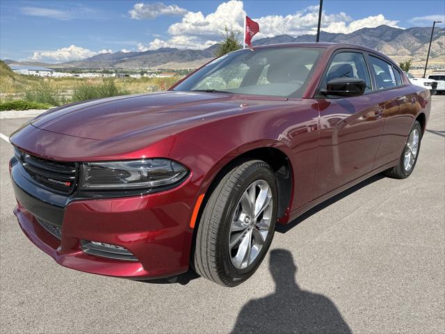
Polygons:
M320 140L314 198L370 172L380 143L385 103L375 102L371 74L361 51L337 51L318 91L326 87L327 81L341 77L363 79L366 92L358 97L316 96Z

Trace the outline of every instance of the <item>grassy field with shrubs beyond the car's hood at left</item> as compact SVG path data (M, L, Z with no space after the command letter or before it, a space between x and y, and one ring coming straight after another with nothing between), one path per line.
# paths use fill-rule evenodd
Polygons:
M150 93L168 89L180 78L41 78L17 74L0 61L0 93L6 95L6 98L0 100L0 104L10 105L8 102L19 97L20 100L30 103L59 106L100 97ZM19 106L25 108L25 104L17 104L17 107Z

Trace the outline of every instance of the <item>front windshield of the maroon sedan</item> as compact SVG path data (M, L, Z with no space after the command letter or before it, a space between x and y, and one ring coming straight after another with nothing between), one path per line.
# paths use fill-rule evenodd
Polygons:
M174 90L302 97L322 52L304 47L234 51L205 65Z

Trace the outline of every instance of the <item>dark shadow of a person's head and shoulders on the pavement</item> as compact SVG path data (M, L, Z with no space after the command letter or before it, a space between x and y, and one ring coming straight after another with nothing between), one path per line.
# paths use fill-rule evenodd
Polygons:
M322 294L301 289L289 250L270 252L275 292L243 306L235 333L351 333L335 304Z

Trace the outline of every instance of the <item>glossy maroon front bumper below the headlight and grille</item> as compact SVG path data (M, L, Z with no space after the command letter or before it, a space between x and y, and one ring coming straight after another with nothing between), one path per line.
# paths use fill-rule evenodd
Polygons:
M26 236L64 267L122 278L161 278L188 270L193 195L188 180L143 196L70 200L56 197L11 168L14 210ZM40 221L40 222L39 222ZM44 228L61 228L60 239ZM115 260L82 250L85 241L126 248L136 260Z

